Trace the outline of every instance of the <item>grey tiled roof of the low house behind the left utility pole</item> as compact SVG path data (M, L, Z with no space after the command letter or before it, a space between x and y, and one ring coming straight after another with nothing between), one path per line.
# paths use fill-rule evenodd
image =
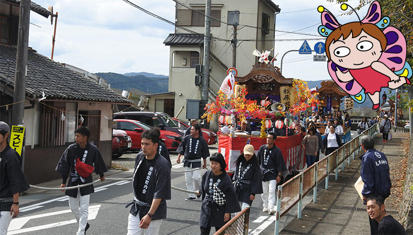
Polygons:
M0 45L0 82L14 87L16 71L15 46ZM45 93L52 100L132 103L118 93L92 82L83 75L29 49L26 96L39 98ZM34 93L34 94L33 94Z

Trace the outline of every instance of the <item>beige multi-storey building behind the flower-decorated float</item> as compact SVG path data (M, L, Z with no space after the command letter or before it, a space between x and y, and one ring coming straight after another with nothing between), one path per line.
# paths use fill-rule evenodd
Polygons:
M205 1L189 0L183 5L176 4L176 24L199 34L175 27L175 32L169 34L164 41L166 46L170 46L168 87L169 92L175 92L175 114L182 106L186 106L187 100L201 99L201 91L195 86L194 76L195 64L203 63ZM215 0L211 9L211 16L222 22L211 20L211 34L214 38L210 43L210 100L215 99L227 69L233 66L233 26L227 24L227 19L236 15L234 11L239 11L236 68L239 75L244 75L249 73L256 62L257 57L252 55L254 48L259 51L273 48L274 18L281 11L271 0ZM245 39L249 40L243 41ZM179 118L187 118L185 108Z

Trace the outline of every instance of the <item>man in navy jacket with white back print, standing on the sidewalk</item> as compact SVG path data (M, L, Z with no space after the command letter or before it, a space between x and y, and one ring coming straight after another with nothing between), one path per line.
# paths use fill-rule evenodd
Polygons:
M391 181L389 164L383 152L374 148L374 139L371 135L365 135L361 138L361 146L366 153L360 156L361 171L360 175L364 182L362 195L364 204L368 197L379 195L386 199L390 195ZM371 219L370 232L377 234L378 222Z

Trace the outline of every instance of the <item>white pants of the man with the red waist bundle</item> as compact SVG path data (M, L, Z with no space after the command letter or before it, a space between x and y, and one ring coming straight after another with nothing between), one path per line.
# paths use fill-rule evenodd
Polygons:
M69 197L69 207L75 215L76 221L79 223L79 229L77 235L85 234L85 227L88 223L89 215L89 199L90 194L81 196L78 189L78 196L76 198Z

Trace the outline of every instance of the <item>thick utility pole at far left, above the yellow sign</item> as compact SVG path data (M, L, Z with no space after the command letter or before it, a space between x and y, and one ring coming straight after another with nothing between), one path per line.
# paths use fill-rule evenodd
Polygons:
M29 50L30 0L20 1L19 34L17 39L16 76L13 93L12 125L23 124L26 99L26 70ZM20 102L20 103L17 103Z

